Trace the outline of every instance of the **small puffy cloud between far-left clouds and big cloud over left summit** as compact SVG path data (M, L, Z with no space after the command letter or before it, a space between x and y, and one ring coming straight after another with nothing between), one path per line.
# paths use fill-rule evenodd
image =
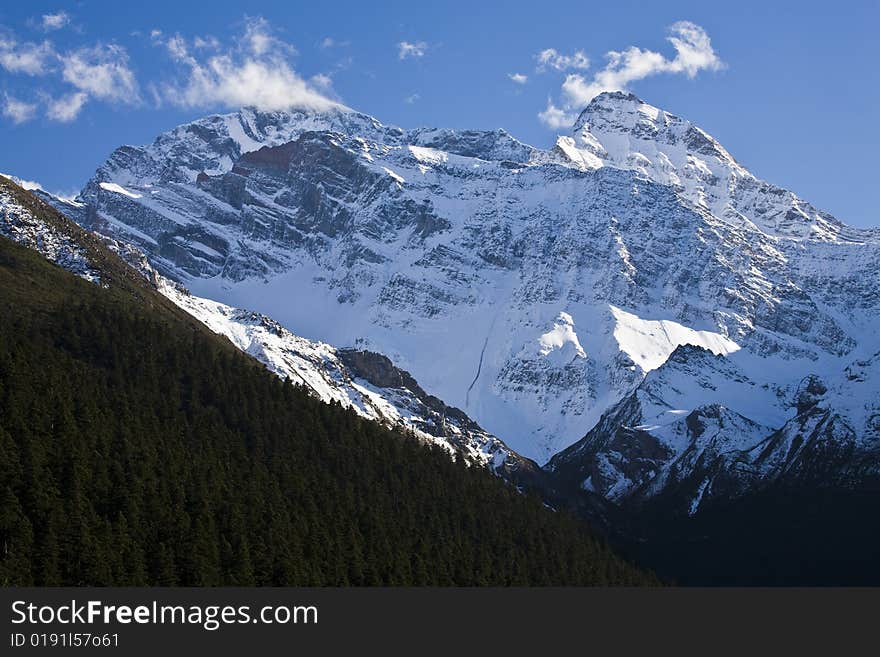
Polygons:
M97 45L68 53L61 57L61 75L89 96L118 103L140 102L137 80L122 46Z

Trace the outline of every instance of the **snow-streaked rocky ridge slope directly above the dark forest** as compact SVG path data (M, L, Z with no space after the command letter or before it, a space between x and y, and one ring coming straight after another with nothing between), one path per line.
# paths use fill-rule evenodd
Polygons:
M14 181L13 181L14 182ZM38 190L31 190L37 192ZM76 214L77 203L45 192L39 195L57 209ZM86 280L102 281L90 235L62 215L48 211L27 191L0 180L0 235L23 244ZM300 338L255 312L192 295L159 274L146 257L126 242L104 238L104 246L149 280L156 291L209 329L263 363L282 378L305 386L317 398L352 408L370 420L408 430L450 454L516 482L535 482L537 466L484 431L462 411L426 393L391 361L369 351L339 350Z

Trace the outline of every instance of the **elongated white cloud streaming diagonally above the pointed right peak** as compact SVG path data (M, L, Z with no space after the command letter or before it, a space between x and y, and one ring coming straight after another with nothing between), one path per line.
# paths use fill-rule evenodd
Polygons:
M630 46L620 52L608 52L605 67L589 80L578 73L568 74L562 83L561 106L548 100L547 108L538 117L551 128L570 126L577 111L604 91L623 91L632 82L660 73L684 74L693 78L700 71L717 71L724 67L712 48L709 35L699 25L688 21L675 23L669 28L667 40L675 49L673 59Z

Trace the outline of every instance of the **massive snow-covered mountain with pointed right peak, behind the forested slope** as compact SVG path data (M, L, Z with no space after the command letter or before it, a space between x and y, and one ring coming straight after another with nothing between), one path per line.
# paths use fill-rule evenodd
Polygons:
M526 456L589 432L552 469L617 501L703 466L789 472L807 434L876 445L880 232L629 94L549 150L243 109L117 149L78 203L193 293L384 354ZM810 411L804 381L825 390Z

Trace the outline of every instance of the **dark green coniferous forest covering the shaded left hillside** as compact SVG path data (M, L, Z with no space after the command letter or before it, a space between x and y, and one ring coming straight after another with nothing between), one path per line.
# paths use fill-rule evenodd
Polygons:
M315 400L106 271L0 238L4 585L655 582L568 513Z

